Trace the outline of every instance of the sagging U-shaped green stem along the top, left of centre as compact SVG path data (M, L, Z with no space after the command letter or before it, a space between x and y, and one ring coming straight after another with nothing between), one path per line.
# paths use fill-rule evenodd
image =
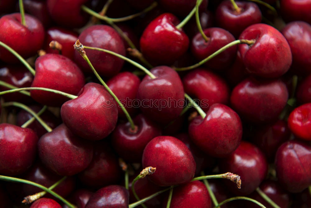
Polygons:
M125 16L125 17L120 17L120 18L109 18L107 16L101 16L99 13L97 13L96 11L91 10L90 8L86 7L85 5L81 6L82 11L85 11L86 13L95 16L96 18L100 19L100 20L104 20L104 21L112 21L112 22L123 22L123 21L127 21L127 20L132 20L135 17L141 16L142 14L152 10L153 8L155 8L158 5L157 2L153 2L149 7L147 7L146 9L144 9L141 12L138 12L136 14L133 15L129 15L129 16Z

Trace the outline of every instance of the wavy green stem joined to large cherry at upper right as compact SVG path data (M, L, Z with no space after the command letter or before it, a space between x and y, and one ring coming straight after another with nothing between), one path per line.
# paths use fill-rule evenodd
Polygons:
M208 57L206 57L205 59L203 59L202 61L200 61L199 63L196 63L192 66L187 66L187 67L181 67L181 68L175 68L173 67L176 71L186 71L186 70L190 70L190 69L194 69L197 68L199 66L201 66L202 64L206 63L207 61L211 60L212 58L216 57L218 54L220 54L221 52L224 52L226 49L237 45L237 44L248 44L248 45L252 45L255 43L255 40L245 40L245 39L241 39L241 40L235 40L232 41L231 43L228 43L227 45L225 45L224 47L221 47L220 49L218 49L216 52L214 52L213 54L209 55Z

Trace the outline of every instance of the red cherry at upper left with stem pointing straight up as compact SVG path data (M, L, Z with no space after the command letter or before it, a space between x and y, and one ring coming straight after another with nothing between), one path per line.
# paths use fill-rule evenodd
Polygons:
M21 24L21 14L13 13L0 18L0 41L12 47L24 58L37 53L44 41L44 28L34 16L25 14L26 25ZM20 61L7 49L0 47L0 60L6 63Z

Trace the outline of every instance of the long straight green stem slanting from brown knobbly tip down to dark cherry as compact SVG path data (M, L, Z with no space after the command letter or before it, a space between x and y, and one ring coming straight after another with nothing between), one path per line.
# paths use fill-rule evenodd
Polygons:
M90 68L92 69L93 73L95 74L95 76L97 77L97 79L100 81L100 83L102 85L104 85L104 87L106 88L106 90L110 93L110 95L114 98L114 100L118 103L118 105L121 107L122 111L124 112L126 118L128 119L128 122L131 125L132 129L135 129L135 124L134 121L132 120L130 114L128 113L128 111L126 110L126 108L124 107L124 105L120 102L120 100L118 99L118 97L114 94L114 92L112 92L112 90L108 87L108 85L104 82L104 80L100 77L100 75L97 73L97 71L95 70L94 66L92 65L91 61L89 60L89 58L86 56L86 52L83 49L83 45L80 43L79 40L77 40L76 44L74 45L74 48L80 53L80 55L82 56L82 58L87 62L87 64L90 66Z

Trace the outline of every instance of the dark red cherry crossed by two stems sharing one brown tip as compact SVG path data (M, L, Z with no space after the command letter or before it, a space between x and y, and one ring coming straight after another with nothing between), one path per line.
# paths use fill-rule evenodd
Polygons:
M108 25L93 25L86 28L79 35L79 40L83 45L104 48L125 56L122 38ZM117 75L124 63L123 59L105 52L91 49L85 49L85 52L98 74L105 77ZM75 61L84 71L92 73L90 66L77 51Z

